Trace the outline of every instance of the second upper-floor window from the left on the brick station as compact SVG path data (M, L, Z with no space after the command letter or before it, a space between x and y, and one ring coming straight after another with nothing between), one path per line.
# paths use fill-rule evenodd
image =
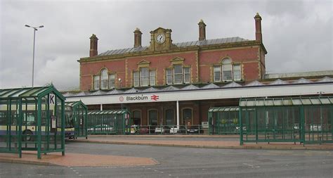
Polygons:
M149 68L140 68L139 71L133 72L133 86L134 87L145 87L154 86L156 78L156 71L149 70Z

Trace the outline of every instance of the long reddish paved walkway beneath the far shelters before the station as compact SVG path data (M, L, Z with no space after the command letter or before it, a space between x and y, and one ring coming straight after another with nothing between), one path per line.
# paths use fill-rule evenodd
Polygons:
M333 150L333 144L294 144L294 143L245 143L240 146L238 136L207 135L129 135L129 136L89 136L89 139L77 139L76 142L100 144L138 144L150 146L177 146L192 148L240 148L240 149L297 149L297 150Z

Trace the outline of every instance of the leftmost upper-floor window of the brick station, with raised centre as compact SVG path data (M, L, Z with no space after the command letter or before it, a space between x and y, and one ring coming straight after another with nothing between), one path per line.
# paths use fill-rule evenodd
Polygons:
M115 73L110 73L107 69L100 70L100 74L93 76L93 89L113 89L115 88Z

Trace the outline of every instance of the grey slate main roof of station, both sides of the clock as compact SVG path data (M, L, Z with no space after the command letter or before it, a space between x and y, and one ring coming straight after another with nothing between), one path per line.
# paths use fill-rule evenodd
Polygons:
M175 45L178 47L187 47L187 46L206 46L212 44L228 44L228 43L235 43L235 42L247 42L248 39L242 39L240 37L230 37L230 38L221 38L221 39L206 39L201 41L193 41L193 42L182 42L176 43ZM109 55L116 55L116 54L124 54L124 53L132 53L138 51L145 51L148 49L148 46L142 46L137 48L128 48L128 49L114 49L105 51L103 53L98 54L98 56L109 56Z

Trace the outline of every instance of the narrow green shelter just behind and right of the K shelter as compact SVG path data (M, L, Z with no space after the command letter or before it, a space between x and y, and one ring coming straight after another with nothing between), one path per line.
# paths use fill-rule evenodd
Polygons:
M77 137L86 137L88 139L86 117L88 114L88 108L82 101L65 102L65 117L72 116L72 123L66 123L73 125L74 130L68 130L65 128L65 135L73 136L73 139ZM70 122L70 121L69 121Z

